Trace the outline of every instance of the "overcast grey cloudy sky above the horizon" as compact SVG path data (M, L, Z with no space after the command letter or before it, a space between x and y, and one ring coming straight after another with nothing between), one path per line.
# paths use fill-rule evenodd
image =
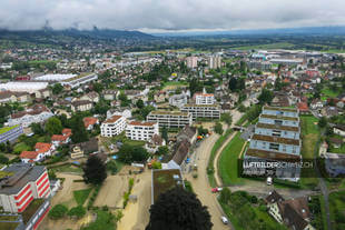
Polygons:
M345 0L0 0L0 28L234 30L345 26Z

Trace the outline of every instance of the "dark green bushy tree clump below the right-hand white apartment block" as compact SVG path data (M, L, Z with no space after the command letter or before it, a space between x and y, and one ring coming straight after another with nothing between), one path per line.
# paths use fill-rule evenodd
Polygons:
M147 150L142 147L128 143L125 143L118 152L118 159L125 163L131 163L135 161L141 162L147 160L148 156Z

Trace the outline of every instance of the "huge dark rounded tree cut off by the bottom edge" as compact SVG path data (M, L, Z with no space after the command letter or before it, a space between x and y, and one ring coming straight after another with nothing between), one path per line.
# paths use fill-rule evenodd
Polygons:
M213 223L207 207L195 193L176 187L161 193L150 207L146 230L210 230Z

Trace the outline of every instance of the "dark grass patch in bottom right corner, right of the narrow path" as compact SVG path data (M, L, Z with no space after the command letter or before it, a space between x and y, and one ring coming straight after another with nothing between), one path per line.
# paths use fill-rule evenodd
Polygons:
M332 229L345 229L345 191L333 192L329 194L329 212Z

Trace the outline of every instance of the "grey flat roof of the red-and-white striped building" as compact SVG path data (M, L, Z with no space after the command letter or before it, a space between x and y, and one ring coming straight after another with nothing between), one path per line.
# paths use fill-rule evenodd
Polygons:
M13 172L13 176L0 179L0 194L17 194L28 182L36 181L46 171L46 167L13 163L2 171Z

